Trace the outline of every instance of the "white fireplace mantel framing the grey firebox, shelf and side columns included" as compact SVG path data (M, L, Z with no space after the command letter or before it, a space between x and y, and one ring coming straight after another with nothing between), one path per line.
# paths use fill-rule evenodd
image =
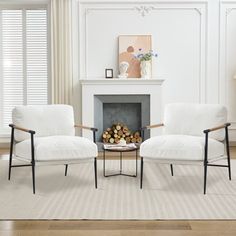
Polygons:
M150 96L150 123L161 122L162 95L161 85L163 78L152 79L81 79L82 86L82 123L94 126L94 96L96 95L149 95ZM151 130L151 136L158 134L157 129ZM88 130L83 130L83 136L92 139Z

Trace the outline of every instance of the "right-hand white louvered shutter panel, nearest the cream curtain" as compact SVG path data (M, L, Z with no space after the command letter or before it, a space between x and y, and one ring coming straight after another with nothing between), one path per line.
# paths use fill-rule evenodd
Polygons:
M27 104L48 103L47 11L26 11Z

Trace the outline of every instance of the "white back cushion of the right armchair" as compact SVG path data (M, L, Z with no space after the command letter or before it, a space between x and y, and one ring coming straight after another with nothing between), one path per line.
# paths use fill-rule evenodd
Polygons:
M164 133L203 136L203 130L227 122L227 110L222 105L172 103L165 107ZM211 138L224 140L225 130L210 132Z

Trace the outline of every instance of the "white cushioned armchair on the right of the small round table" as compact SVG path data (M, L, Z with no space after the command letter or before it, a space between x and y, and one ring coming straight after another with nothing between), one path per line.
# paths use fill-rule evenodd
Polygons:
M140 147L141 180L144 161L173 164L201 163L204 167L204 194L206 193L207 167L227 167L231 180L227 111L224 106L211 104L173 103L165 107L163 124L145 129L163 127L163 135L151 137ZM227 159L227 164L214 163Z

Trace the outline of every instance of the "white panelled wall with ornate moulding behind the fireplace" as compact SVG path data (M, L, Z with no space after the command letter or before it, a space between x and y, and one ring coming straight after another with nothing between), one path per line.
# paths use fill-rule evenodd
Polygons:
M236 141L236 1L82 0L77 7L75 94L79 78L102 78L105 68L117 75L119 35L151 34L164 103L225 104Z

